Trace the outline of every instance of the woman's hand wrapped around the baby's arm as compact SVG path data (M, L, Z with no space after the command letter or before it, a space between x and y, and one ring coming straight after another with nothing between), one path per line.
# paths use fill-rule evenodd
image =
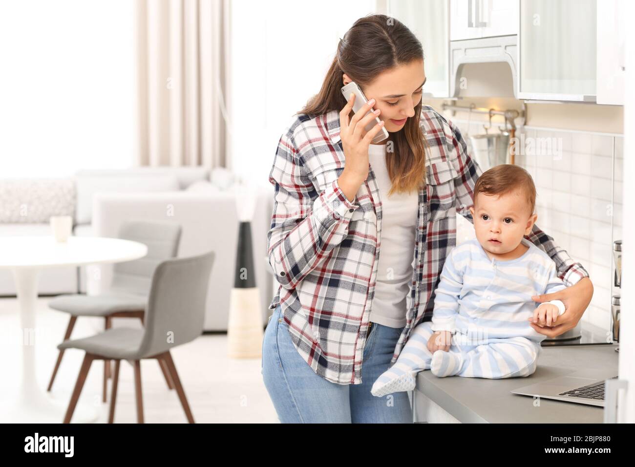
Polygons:
M536 332L544 334L547 337L556 337L556 335L563 334L576 327L585 309L587 309L587 306L591 303L592 296L593 284L588 277L580 279L575 285L560 290L559 292L534 295L531 299L535 302L542 303L550 300L562 301L565 304L565 313L558 316L558 325L549 326L545 320L540 320L538 323L530 322L530 325Z

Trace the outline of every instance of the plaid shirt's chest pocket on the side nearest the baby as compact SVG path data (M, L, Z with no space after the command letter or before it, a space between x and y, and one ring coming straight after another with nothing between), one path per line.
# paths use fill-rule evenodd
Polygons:
M454 180L457 172L448 161L439 161L427 166L427 208L429 220L438 220L455 216L456 191Z

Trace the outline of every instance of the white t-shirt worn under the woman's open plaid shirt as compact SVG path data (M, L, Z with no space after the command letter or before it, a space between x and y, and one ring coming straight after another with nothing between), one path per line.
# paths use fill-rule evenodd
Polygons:
M406 325L406 295L412 280L418 190L388 196L392 184L385 158L385 144L371 144L368 147L368 161L375 173L382 201L377 283L370 321L400 328Z

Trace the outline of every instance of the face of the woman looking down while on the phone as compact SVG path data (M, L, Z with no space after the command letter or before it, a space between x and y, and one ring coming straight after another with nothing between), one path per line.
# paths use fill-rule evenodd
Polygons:
M426 79L424 60L413 60L380 73L363 89L368 100L375 98L373 109L380 109L379 119L388 132L398 132L406 119L415 116ZM351 81L344 73L344 85Z

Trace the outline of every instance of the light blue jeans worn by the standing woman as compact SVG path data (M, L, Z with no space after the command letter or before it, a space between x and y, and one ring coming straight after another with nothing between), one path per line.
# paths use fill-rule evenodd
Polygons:
M412 423L408 393L370 393L391 366L401 330L373 323L364 345L363 382L337 384L316 374L300 356L278 305L262 342L262 377L281 423Z

